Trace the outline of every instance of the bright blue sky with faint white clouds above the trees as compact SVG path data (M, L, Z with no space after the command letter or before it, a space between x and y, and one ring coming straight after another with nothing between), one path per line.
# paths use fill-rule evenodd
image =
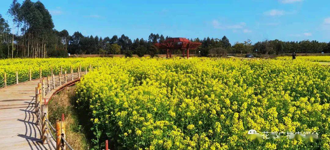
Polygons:
M34 0L33 0L34 1ZM22 0L19 0L21 3ZM171 37L222 38L230 43L251 39L330 41L329 0L128 1L41 0L52 15L55 29L72 35L148 39L150 33ZM6 15L11 0L1 2Z

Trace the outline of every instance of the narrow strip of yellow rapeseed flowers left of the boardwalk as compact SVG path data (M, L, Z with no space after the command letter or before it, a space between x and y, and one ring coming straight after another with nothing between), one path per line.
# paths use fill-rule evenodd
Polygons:
M58 75L61 70L70 73L71 67L74 72L82 66L81 71L89 69L89 65L97 67L98 65L105 65L112 63L111 58L14 58L0 60L0 88L3 87L4 73L7 74L7 85L16 83L16 71L18 72L19 82L27 81L29 79L29 70L31 69L32 79L40 77L40 68L42 69L42 76L50 76L51 68L53 74Z

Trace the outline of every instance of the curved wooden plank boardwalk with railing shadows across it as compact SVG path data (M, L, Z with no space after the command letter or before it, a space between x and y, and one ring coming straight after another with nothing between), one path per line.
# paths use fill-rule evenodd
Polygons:
M68 80L68 83L55 87L45 98L48 99L53 92L73 82ZM35 87L38 83L40 83L40 79L0 89L1 149L49 149L48 144L41 143L41 129L37 124L37 116L34 112Z

